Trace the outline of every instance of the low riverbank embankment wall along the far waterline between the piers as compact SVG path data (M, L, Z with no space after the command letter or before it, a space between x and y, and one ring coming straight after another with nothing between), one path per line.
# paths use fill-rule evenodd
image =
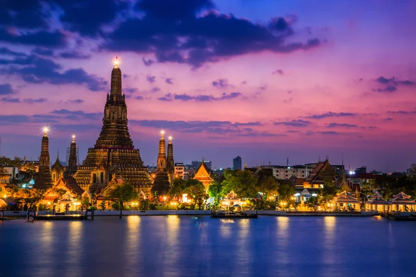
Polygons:
M257 213L257 215L274 216L335 216L335 217L369 217L379 215L377 212L313 212L313 211L246 211L246 213ZM26 217L26 211L4 211L5 217ZM50 215L50 211L39 211L38 215ZM120 211L95 211L94 216L119 216ZM128 215L211 215L210 210L157 210L157 211L123 211L124 216Z

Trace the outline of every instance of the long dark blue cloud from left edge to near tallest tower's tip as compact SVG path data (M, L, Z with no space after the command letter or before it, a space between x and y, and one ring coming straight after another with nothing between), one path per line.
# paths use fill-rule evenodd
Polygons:
M0 64L12 65L9 68L1 69L0 73L18 75L29 83L87 84L91 91L103 91L107 87L107 81L95 75L90 75L83 69L62 71L60 64L35 55L28 55L23 58L18 57L14 60L0 59Z

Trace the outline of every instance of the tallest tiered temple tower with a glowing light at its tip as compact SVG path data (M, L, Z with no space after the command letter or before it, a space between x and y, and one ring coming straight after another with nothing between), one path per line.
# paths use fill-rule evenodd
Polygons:
M132 184L137 191L150 194L150 175L135 149L128 131L127 105L121 91L119 59L114 60L111 90L105 102L103 128L94 148L89 148L82 166L74 175L83 190L100 191L113 179Z

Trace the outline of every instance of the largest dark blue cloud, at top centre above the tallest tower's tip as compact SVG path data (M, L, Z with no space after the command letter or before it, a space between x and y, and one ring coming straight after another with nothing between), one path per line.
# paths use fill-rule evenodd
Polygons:
M152 53L157 62L186 63L198 68L206 62L247 53L291 53L320 45L315 38L293 42L293 22L282 17L267 25L255 24L209 10L213 7L209 0L139 1L135 8L144 16L121 22L114 32L107 33L103 47Z

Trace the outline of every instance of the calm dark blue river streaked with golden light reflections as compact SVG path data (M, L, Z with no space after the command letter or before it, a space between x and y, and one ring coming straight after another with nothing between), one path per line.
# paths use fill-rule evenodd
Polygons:
M14 220L0 225L0 276L411 276L415 228L376 217Z

